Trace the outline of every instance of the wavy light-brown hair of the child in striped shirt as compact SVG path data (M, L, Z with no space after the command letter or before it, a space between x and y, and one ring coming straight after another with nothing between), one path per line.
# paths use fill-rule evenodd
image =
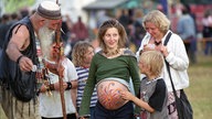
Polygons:
M82 66L84 63L85 54L88 51L88 47L93 47L93 45L87 41L78 41L72 51L72 62L75 66Z

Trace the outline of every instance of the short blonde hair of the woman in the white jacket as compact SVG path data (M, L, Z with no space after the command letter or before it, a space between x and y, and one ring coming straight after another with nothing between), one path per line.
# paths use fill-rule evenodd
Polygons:
M144 17L142 26L146 22L153 23L162 33L166 33L170 28L170 20L159 10L152 10Z

